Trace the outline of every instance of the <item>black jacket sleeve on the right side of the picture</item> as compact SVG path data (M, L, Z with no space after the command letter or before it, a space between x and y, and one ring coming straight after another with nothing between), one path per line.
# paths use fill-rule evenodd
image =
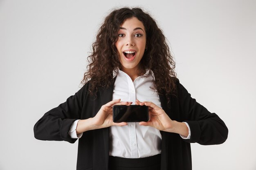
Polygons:
M178 80L177 90L182 118L189 124L191 130L190 139L184 140L189 143L197 142L201 145L225 142L228 128L224 121L196 102Z

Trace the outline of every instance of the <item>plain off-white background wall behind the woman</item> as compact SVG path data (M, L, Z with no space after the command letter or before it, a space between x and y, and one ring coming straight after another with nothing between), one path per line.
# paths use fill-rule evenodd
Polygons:
M139 6L170 42L177 77L229 128L191 144L194 170L256 170L256 1L0 0L0 170L74 170L77 144L39 141L36 121L79 90L113 7Z

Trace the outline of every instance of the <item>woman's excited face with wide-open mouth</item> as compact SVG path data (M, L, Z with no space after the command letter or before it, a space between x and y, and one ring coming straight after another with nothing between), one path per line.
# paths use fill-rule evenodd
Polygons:
M137 18L126 19L118 31L115 44L122 69L137 69L146 47L146 31Z

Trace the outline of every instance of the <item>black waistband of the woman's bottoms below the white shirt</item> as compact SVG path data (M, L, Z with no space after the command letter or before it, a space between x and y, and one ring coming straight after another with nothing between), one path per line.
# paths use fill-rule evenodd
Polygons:
M109 157L110 170L160 170L161 154L145 158Z

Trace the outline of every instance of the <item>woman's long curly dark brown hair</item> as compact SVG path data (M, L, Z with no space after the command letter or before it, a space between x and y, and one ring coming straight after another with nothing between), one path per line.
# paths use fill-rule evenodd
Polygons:
M84 73L81 84L90 80L89 93L96 95L99 87L108 88L115 80L113 70L121 68L119 55L115 46L118 40L120 25L128 18L136 17L145 27L146 48L139 63L140 69L153 71L153 84L157 93L168 95L176 90L174 71L175 62L166 43L163 31L159 29L155 20L140 8L121 8L113 10L99 28L96 41L92 44L92 53L88 56L88 71Z

